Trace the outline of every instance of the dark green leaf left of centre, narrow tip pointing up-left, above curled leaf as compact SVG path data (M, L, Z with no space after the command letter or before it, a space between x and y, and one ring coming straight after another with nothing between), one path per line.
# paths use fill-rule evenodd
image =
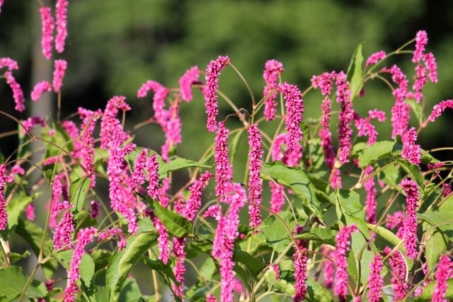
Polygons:
M173 236L182 238L192 231L192 223L185 217L165 209L159 202L154 202L151 198L147 198L147 202L151 205L151 209L153 209L159 221Z

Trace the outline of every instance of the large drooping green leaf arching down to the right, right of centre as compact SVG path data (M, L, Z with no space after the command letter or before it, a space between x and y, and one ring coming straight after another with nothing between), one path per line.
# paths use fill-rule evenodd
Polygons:
M314 186L304 171L287 167L281 161L274 161L273 163L265 163L265 168L261 171L263 179L271 180L269 175L281 185L292 190L297 197L302 199L305 207L310 209L319 219L323 219L323 214L321 209L319 209L320 202L316 198Z

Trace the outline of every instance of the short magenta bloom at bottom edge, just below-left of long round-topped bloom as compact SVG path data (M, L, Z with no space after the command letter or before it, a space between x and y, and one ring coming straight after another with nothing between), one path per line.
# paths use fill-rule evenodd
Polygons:
M384 250L385 255L389 255L391 248L388 246ZM404 262L403 255L396 251L389 258L391 267L391 289L394 291L395 301L401 301L407 294L408 284L406 283L406 262Z

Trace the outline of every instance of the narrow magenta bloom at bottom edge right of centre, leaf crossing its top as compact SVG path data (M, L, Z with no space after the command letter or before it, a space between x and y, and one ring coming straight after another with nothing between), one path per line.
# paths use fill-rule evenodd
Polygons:
M297 227L294 230L294 233L299 233L299 231L303 231L303 227ZM299 250L294 248L294 254L292 255L294 259L294 279L296 279L296 284L294 284L294 289L296 292L294 296L292 296L292 301L300 302L305 300L306 296L306 278L308 277L306 273L306 241L304 240L296 240L297 245L299 246Z

